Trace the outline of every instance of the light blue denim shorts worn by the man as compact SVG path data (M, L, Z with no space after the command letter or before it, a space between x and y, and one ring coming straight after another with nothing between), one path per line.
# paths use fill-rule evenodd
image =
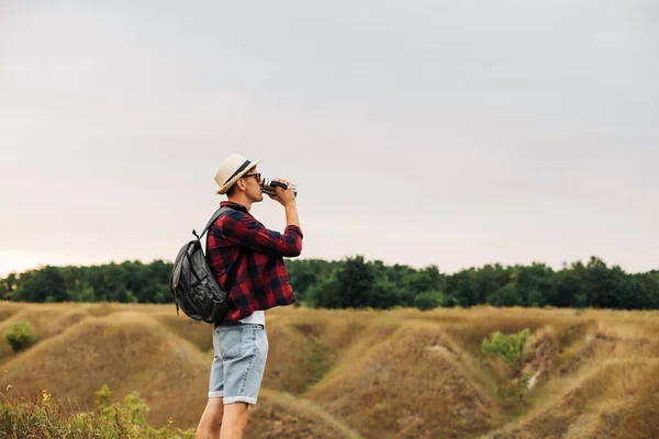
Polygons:
M269 348L264 326L243 323L216 326L213 347L209 397L222 397L224 404L256 404Z

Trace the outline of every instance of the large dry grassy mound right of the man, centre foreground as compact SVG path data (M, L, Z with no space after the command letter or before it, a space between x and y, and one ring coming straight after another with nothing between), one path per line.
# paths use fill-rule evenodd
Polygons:
M309 397L369 438L473 437L501 418L442 329L412 322L382 335Z

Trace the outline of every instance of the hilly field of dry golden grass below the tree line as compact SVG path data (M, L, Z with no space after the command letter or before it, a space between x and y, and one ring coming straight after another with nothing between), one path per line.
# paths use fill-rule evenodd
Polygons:
M659 437L659 312L266 314L270 352L248 438ZM107 384L116 399L137 391L154 427L199 420L210 326L174 305L0 303L0 331L19 320L38 339L18 353L0 344L3 401L45 390L65 413L93 412ZM525 328L517 365L482 353L492 333Z

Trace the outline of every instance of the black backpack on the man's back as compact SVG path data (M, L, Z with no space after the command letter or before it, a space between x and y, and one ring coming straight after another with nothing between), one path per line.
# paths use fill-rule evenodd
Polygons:
M209 221L201 233L203 236L211 225L231 207L220 207ZM194 229L192 239L181 247L174 262L174 269L169 278L169 289L176 303L176 314L179 308L186 315L196 320L209 324L220 323L227 309L228 292L217 284L217 280L201 246L201 236Z

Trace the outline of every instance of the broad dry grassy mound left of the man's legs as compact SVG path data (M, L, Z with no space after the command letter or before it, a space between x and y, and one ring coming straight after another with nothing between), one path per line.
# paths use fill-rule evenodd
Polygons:
M3 392L10 401L47 389L54 399L93 409L94 391L107 383L121 399L138 391L156 425L169 416L192 425L198 415L189 407L199 412L205 403L206 360L154 319L118 312L87 318L19 353L3 364L0 389L11 385Z

